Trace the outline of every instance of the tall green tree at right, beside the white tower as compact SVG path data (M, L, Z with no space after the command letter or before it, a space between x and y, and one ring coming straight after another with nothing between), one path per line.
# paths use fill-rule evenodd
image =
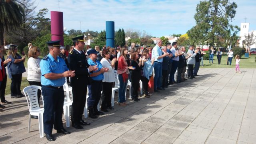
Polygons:
M238 26L230 22L236 14L237 5L230 0L200 1L196 6L195 30L204 32L204 42L210 46L221 45L220 39L230 40L231 32L238 31ZM226 42L226 41L225 41Z

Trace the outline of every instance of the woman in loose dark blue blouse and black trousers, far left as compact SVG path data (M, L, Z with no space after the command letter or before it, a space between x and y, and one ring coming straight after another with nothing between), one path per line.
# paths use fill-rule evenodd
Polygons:
M20 91L20 84L22 80L22 73L26 72L24 62L26 56L21 57L18 54L18 46L12 45L8 51L8 58L11 59L11 62L8 63L8 76L12 79L11 83L11 98L20 98L24 96Z

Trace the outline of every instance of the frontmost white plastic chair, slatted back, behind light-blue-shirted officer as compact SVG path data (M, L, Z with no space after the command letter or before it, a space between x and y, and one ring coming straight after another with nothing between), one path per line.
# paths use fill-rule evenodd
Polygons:
M44 122L43 113L44 108L40 108L38 102L37 91L41 90L41 86L27 86L23 89L28 102L29 119L28 119L28 132L30 132L31 116L38 116L39 134L40 138L44 137Z

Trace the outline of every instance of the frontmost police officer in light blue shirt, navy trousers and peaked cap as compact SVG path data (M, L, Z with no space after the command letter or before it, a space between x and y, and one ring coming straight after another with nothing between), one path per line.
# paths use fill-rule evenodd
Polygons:
M57 57L60 54L60 40L47 42L49 54L40 62L42 95L44 96L44 133L49 141L56 140L52 136L52 128L57 133L70 134L63 128L62 112L64 104L63 84L65 77L75 76L69 71L65 61Z

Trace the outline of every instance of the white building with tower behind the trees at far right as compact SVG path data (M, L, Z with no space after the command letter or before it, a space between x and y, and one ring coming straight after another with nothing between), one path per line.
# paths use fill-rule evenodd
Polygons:
M247 48L247 46L245 44L245 38L248 37L248 34L251 35L251 33L253 33L253 35L256 36L256 31L255 30L252 30L251 32L249 32L249 25L250 25L249 22L241 23L239 47L243 47L244 46L245 48ZM250 48L256 48L256 44L253 44L253 45L251 45L249 47Z

